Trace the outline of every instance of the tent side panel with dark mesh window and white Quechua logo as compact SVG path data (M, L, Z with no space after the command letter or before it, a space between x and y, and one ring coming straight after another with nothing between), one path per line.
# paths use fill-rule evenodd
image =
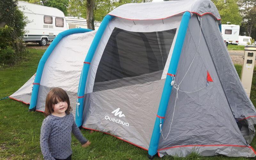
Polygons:
M148 149L164 86L161 76L175 33L176 28L160 32L114 28L93 92L85 94L84 128Z

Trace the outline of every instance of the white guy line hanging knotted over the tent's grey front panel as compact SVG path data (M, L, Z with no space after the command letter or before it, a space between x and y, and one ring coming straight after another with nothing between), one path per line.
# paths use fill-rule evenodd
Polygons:
M201 16L199 42L198 42L198 47L197 47L197 50L196 50L196 54L197 54L198 49L199 49L199 46L200 46L201 33L202 33L202 18L203 18L203 17ZM176 83L176 81L175 81L175 76L172 75L172 82L171 82L171 85L173 86L173 88L176 89L176 97L175 97L174 108L173 108L173 113L172 113L172 122L173 122L174 112L175 112L175 108L176 108L176 101L177 101L177 99L179 99L179 98L178 98L178 91L186 92L186 93L198 92L198 91L204 89L205 87L207 87L207 86L209 85L209 83L207 82L207 84L206 84L203 88L201 88L201 89L199 89L199 90L196 90L196 91L192 91L192 92L187 92L187 91L182 91L182 90L180 90L180 84L181 84L181 82L183 81L183 79L185 78L185 76L187 75L187 73L188 73L188 71L189 71L189 69L190 69L192 63L194 62L195 57L196 57L196 54L195 54L195 56L194 56L192 62L190 63L186 74L184 75L184 77L182 78L182 80L180 81L180 83L179 83L178 85L177 85L177 83ZM171 122L171 124L170 124L169 132L168 132L167 136L164 138L163 131L162 131L162 118L160 117L160 125L159 125L159 127L160 127L160 133L161 133L161 135L162 135L162 137L163 137L164 140L167 139L167 137L169 136L169 134L170 134L170 132L171 132L172 122Z

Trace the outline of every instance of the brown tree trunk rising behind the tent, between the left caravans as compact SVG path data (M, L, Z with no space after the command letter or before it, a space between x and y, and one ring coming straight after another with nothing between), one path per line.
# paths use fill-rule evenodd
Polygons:
M93 10L94 10L94 5L95 5L95 0L86 0L87 1L87 28L94 30L94 18L93 18Z

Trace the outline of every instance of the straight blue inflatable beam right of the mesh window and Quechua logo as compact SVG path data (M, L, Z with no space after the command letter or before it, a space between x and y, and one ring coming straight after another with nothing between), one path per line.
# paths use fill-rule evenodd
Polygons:
M160 133L160 118L161 118L161 122L163 124L164 116L165 116L168 102L170 99L170 95L172 92L172 86L171 86L172 76L176 75L176 70L178 67L179 60L180 60L180 53L181 53L181 50L183 47L183 43L184 43L184 39L186 36L188 22L190 20L190 17L191 17L190 12L185 12L183 14L181 22L180 22L179 32L178 32L176 42L175 42L175 45L173 48L172 58L171 58L171 62L170 62L169 68L168 68L168 73L167 73L166 80L164 83L162 97L161 97L159 108L158 108L157 115L156 115L154 129L153 129L153 133L152 133L149 148L148 148L148 157L150 159L152 159L157 153L159 138L160 138L160 134L161 134Z

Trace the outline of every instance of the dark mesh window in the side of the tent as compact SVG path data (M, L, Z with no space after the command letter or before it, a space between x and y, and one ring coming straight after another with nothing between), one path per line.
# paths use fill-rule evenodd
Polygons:
M93 92L160 80L175 29L131 32L114 28L102 54Z

